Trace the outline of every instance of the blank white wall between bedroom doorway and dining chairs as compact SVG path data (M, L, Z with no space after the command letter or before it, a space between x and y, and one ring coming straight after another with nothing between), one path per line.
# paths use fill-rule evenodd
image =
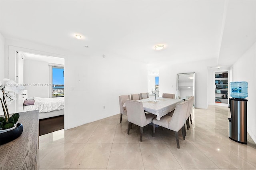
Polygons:
M111 55L83 58L79 63L67 58L65 63L69 63L65 64L65 89L68 90L65 91L65 100L67 95L70 100L65 102L65 113L70 113L70 127L116 115L120 113L119 95L147 91L146 64ZM66 109L66 106L72 107ZM74 108L79 108L76 109L78 113Z

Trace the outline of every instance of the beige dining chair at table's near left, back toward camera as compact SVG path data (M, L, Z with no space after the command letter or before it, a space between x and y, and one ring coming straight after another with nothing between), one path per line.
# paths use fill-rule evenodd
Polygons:
M126 100L128 129L127 134L130 133L130 126L133 124L140 127L140 142L142 141L143 127L152 123L153 115L144 113L141 101Z

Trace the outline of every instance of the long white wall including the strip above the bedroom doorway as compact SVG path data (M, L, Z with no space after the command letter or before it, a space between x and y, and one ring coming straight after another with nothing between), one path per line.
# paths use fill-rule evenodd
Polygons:
M65 59L65 129L116 115L120 113L118 95L141 93L148 88L145 63L122 59L112 53L105 53L105 58L100 52L94 56L77 55L65 49L6 39L9 77L15 77L15 53L9 53L9 45L23 52Z

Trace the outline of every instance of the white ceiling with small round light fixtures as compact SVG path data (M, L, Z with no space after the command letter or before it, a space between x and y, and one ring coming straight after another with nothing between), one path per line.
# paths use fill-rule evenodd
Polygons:
M85 56L231 65L256 40L255 9L255 0L1 0L0 28L4 38Z

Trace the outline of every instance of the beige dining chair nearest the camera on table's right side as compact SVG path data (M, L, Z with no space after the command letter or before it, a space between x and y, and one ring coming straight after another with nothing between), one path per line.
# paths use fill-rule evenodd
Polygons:
M178 131L182 129L182 136L185 140L185 121L188 109L188 101L184 101L182 103L178 103L175 107L174 113L172 116L165 115L161 117L160 121L153 119L153 136L155 134L155 125L159 125L164 128L168 128L174 131L177 148L180 148L180 142L178 137Z

